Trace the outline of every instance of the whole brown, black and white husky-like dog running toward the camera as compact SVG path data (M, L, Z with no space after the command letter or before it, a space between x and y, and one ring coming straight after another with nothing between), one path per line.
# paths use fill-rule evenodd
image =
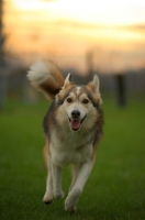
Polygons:
M44 157L48 168L43 201L64 197L62 168L71 164L72 180L65 200L65 210L76 211L76 205L91 173L98 142L102 136L103 113L99 78L86 86L66 79L51 61L40 61L31 66L27 78L47 98L53 99L44 118L46 144Z

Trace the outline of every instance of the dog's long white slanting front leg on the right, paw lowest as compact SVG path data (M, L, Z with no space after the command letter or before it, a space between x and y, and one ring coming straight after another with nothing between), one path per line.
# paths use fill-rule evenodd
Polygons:
M77 179L75 185L72 186L71 190L69 191L66 200L65 200L65 210L69 212L76 211L76 205L79 200L79 196L82 193L83 186L91 173L92 169L92 162L83 163L80 166L80 169L77 175Z

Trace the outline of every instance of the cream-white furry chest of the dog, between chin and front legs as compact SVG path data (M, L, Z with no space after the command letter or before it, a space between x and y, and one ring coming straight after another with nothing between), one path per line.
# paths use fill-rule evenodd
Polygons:
M53 135L51 144L52 160L55 164L64 167L68 164L83 163L90 160L92 143L89 136L81 136L75 132L67 134L63 141Z

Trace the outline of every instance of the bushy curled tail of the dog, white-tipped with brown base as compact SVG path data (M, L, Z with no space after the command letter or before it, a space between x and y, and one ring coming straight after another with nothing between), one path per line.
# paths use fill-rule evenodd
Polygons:
M30 67L27 78L31 85L46 98L54 99L62 89L65 77L52 61L38 61Z

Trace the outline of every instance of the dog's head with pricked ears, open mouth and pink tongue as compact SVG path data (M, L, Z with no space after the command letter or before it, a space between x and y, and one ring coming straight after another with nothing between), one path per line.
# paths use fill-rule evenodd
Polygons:
M68 74L64 86L56 96L66 112L70 129L80 130L83 121L93 122L97 117L97 108L102 103L99 92L99 78L94 75L93 80L86 86L76 86Z

